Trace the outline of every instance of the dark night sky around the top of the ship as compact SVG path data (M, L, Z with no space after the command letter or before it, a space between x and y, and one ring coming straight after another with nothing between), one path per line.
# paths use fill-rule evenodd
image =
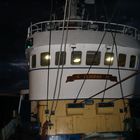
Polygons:
M0 92L27 87L28 74L24 55L27 27L31 22L49 20L50 1L0 1ZM96 1L96 18L104 15L105 5L109 17L116 8L114 21L140 27L140 0ZM53 11L61 11L63 3L64 0L54 0Z

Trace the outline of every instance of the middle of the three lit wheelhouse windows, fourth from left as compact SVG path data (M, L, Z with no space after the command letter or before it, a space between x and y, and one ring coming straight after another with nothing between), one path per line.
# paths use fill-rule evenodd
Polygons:
M72 51L71 53L71 64L72 65L80 65L81 64L81 51Z

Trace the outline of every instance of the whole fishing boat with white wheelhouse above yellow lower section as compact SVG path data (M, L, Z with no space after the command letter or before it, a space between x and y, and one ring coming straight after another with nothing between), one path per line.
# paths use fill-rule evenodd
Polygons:
M28 28L31 113L46 139L120 138L139 73L139 31L85 20L77 7L66 0L62 20Z

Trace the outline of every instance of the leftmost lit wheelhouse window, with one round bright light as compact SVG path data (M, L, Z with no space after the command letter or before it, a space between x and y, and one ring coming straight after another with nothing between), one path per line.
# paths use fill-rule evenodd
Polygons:
M49 52L43 52L40 54L40 64L41 66L48 66L50 65L50 54Z

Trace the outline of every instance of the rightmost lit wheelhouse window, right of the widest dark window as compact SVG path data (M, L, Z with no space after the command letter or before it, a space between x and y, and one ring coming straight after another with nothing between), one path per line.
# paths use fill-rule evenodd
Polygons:
M113 65L113 61L114 61L114 54L111 52L105 53L104 64L105 65Z

